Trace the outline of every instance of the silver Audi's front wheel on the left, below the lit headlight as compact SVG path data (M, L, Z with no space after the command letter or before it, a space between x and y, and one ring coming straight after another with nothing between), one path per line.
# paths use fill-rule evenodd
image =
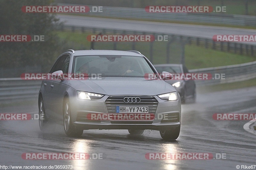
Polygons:
M64 130L67 136L69 137L80 137L84 130L77 128L71 119L71 109L70 103L68 98L64 99L63 102L63 123L64 123Z

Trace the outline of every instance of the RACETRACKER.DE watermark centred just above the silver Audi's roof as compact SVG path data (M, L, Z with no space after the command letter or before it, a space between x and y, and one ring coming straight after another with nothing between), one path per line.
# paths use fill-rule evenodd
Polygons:
M88 35L90 42L152 42L168 41L168 35Z

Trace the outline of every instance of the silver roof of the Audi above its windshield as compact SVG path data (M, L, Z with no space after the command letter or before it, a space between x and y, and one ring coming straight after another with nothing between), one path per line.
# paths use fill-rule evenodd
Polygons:
M135 52L119 50L75 50L74 55L132 55L140 57L143 56Z

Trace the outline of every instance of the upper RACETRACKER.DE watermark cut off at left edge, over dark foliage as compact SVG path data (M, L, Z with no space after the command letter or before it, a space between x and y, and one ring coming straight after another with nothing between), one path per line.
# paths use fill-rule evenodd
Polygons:
M0 42L42 42L44 35L0 35Z

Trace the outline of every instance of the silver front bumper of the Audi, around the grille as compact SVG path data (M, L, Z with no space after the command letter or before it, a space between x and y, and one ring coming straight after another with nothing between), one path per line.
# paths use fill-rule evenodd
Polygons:
M74 99L71 104L72 122L78 128L88 129L151 129L161 130L170 129L180 126L181 119L181 102L180 97L177 101L162 100L154 96L158 100L158 107L154 119L152 120L89 120L86 118L88 114L108 114L105 100L109 96L104 96L97 100L78 100ZM173 118L166 120L166 118ZM165 120L163 120L165 119ZM167 118L168 119L168 118Z

